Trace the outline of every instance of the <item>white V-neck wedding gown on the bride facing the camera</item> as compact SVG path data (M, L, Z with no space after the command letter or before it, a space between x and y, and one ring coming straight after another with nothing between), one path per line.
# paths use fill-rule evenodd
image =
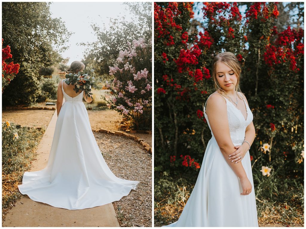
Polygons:
M245 120L241 111L228 99L225 100L231 140L234 145L241 145L245 129L253 120L252 111L244 101L247 109ZM204 116L211 130L205 106ZM181 216L176 222L165 227L258 227L249 151L240 163L252 184L252 192L240 195L242 188L239 178L222 155L212 130L211 135L199 176Z

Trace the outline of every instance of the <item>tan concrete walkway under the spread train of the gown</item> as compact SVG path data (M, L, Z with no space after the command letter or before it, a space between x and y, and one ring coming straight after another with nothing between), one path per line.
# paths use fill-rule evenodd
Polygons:
M33 161L30 171L39 171L47 166L56 120L55 110L39 143L37 160ZM119 223L111 203L82 210L68 210L32 201L23 195L7 213L2 227L119 227Z

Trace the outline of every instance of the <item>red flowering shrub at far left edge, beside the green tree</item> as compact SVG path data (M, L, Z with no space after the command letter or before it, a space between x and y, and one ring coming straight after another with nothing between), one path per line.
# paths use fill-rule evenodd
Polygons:
M14 64L14 62L6 63L5 60L12 58L11 47L7 45L3 48L2 39L2 92L4 88L14 79L15 75L18 73L20 65Z

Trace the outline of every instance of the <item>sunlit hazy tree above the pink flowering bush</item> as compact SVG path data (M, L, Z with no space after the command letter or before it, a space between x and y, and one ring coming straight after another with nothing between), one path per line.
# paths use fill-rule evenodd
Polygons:
M85 51L87 62L95 61L95 73L108 75L109 66L117 59L120 50L125 50L128 43L134 39L144 38L146 41L152 37L152 4L151 2L129 2L126 12L132 16L127 22L124 15L120 19L111 19L109 28L100 28L98 24L91 27L97 36L93 43L81 43L89 47Z

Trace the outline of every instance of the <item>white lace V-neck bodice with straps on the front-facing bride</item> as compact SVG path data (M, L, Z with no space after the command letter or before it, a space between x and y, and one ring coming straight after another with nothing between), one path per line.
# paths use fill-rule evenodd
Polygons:
M212 94L218 94L218 93L212 93ZM237 107L235 107L233 103L231 103L224 96L222 97L226 100L227 118L228 118L229 128L230 128L230 138L233 144L241 144L245 137L246 127L253 121L252 111L248 107L248 104L246 103L246 101L243 99L246 110L247 110L247 118L245 119L242 112ZM205 103L205 106L206 106L206 103ZM204 117L206 118L209 129L211 130L211 126L209 124L207 114L205 113L205 106L204 106ZM212 137L215 137L214 134L212 133L212 130L211 130L211 135Z

